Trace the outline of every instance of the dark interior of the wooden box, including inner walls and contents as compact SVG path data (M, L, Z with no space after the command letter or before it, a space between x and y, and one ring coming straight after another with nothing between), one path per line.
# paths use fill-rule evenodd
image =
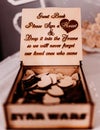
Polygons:
M34 72L34 74L32 74L34 76L28 79L31 75L29 74L31 71ZM53 81L53 83L47 83L47 86L45 87L39 87L38 83L41 81L41 77L44 75L46 77L49 75L59 75L60 77L58 76L59 78L56 80L56 82ZM76 77L78 79L75 79L75 75L78 76ZM47 82L48 78L46 79L46 77L43 82ZM63 77L72 78L75 83L67 87L59 86L61 84L60 80L63 79ZM66 82L66 80L64 82ZM60 94L59 89L57 88L60 88L60 90L62 90L60 91ZM62 92L63 94L61 94ZM45 97L48 97L47 95L50 96L50 98L47 100L53 100L54 98L54 100L59 99L59 102L44 101L46 100ZM8 102L12 104L32 103L46 105L58 103L87 103L90 100L91 99L87 91L84 75L79 66L23 66L17 75L16 81L12 88L12 93L8 98Z

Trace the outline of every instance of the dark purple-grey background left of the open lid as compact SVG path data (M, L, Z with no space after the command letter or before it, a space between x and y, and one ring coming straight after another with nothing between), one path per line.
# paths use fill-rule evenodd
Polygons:
M20 49L20 33L13 26L15 14L21 12L22 8L36 7L40 7L39 0L17 6L12 5L7 0L0 0L0 60ZM20 25L21 17L18 22Z

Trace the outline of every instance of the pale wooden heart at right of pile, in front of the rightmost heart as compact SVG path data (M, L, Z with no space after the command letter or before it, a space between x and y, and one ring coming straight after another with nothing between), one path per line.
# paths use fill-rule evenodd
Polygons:
M60 80L60 83L58 83L58 86L60 87L69 87L73 85L73 80L70 76L66 76L64 79Z

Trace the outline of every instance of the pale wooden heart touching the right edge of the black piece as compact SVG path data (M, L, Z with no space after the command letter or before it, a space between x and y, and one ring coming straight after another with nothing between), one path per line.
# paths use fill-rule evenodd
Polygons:
M41 81L39 81L37 83L37 85L40 88L44 88L44 87L47 87L48 85L50 85L51 83L52 83L51 78L48 75L44 75L41 77Z

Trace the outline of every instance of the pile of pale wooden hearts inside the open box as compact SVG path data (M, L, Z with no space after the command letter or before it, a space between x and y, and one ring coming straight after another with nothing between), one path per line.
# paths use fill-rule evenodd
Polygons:
M33 83L33 80L38 78L37 82ZM27 70L23 81L28 81L31 86L27 87L31 94L44 94L42 102L44 104L58 104L60 103L60 97L64 95L64 88L75 87L79 80L78 73L74 73L71 76L63 75L62 73L42 73L36 75L32 70ZM30 89L31 88L31 89Z

